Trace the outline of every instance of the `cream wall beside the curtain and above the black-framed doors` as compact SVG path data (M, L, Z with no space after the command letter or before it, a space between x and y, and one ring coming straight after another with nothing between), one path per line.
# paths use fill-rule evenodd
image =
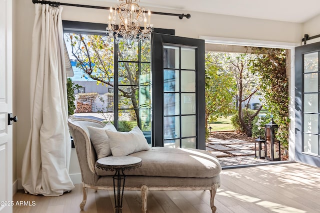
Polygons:
M86 0L61 0L62 2L87 4ZM13 76L15 77L15 95L13 97L16 115L19 122L16 124L15 137L13 137L16 153L13 158L16 165L13 170L14 179L21 177L21 164L25 145L30 129L30 103L29 103L29 73L30 73L30 54L31 36L34 19L34 5L31 0L14 0L15 7L13 14L14 20L14 44L13 50ZM102 1L90 1L94 5L105 5ZM116 4L116 1L114 1ZM187 11L166 10L163 8L150 8L152 11L187 13ZM176 16L152 15L151 23L157 28L175 29L177 36L198 38L199 36L230 37L253 40L268 40L279 42L299 42L304 31L311 32L311 25L317 26L320 16L310 23L305 24L302 33L302 24L270 21L262 19L242 18L236 16L217 15L199 12L189 12L190 19L178 19ZM62 18L64 20L87 21L87 22L106 22L108 11L98 9L88 9L80 7L64 6ZM315 32L314 32L315 33ZM317 30L317 34L320 29ZM74 154L74 153L72 153ZM72 158L74 159L74 158ZM71 163L72 165L72 163ZM76 165L76 163L73 163ZM72 173L75 173L73 170Z

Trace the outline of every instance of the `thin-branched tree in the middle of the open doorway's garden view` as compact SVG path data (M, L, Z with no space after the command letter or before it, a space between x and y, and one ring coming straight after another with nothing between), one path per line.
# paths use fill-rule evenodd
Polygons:
M250 113L248 104L246 104L250 102L250 99L259 91L260 87L258 76L253 75L250 70L250 62L253 57L254 55L247 53L225 54L226 69L232 73L236 80L237 94L234 98L237 100L238 120L248 137L252 136L252 120L263 107L263 104L260 104L254 113ZM247 119L247 122L245 122L244 118Z

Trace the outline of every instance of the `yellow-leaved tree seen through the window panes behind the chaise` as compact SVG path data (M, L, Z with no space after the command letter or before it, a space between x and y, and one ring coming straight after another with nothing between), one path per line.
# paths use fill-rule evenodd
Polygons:
M91 79L96 80L97 84L102 83L114 87L114 62L113 41L106 36L82 34L82 33L67 33L66 40L71 43L71 53L76 59L76 67L83 70ZM127 43L125 40L118 42L118 58L122 61L137 61L139 56L139 46L137 41L132 40ZM149 42L143 42L141 47L142 61L150 59ZM145 73L149 67L141 67L141 73ZM137 125L140 127L139 120L139 73L137 63L121 62L118 64L118 92L119 105L126 105L125 108L132 108L135 113ZM130 101L128 101L130 100Z

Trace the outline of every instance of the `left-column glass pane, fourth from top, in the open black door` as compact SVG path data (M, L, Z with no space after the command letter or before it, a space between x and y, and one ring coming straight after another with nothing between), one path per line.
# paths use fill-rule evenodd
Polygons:
M179 116L163 118L163 138L179 138L180 137L180 121Z

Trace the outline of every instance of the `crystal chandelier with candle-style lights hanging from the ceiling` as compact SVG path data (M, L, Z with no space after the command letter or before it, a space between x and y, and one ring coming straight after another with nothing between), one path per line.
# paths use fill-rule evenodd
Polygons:
M109 38L115 37L116 41L119 37L127 39L150 39L153 30L153 24L150 24L151 12L148 10L147 17L145 8L140 7L137 2L140 0L118 0L118 5L114 9L109 9L109 20L106 27L106 33ZM118 25L115 22L119 19ZM118 22L118 21L117 21ZM140 24L143 23L143 29Z

